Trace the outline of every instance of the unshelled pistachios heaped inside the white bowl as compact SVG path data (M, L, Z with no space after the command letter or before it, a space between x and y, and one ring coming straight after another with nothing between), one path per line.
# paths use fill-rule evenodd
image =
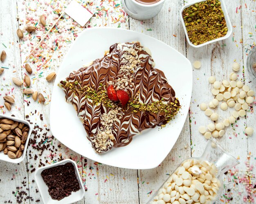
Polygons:
M29 127L26 124L0 118L0 151L4 151L11 159L20 158L28 132Z

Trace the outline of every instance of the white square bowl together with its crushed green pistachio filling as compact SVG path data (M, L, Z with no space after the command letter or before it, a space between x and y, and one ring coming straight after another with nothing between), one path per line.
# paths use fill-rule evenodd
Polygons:
M200 0L186 4L180 18L189 45L198 48L227 39L232 25L223 0Z

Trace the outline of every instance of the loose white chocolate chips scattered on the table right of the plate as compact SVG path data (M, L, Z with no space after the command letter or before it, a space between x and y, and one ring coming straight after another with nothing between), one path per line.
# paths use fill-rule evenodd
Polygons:
M233 64L234 71L238 71L239 68L240 65L238 63ZM249 86L244 85L242 81L237 81L236 73L231 72L229 79L229 81L223 80L220 82L216 81L214 76L209 77L209 83L213 86L211 93L215 98L209 102L209 108L206 103L199 105L200 109L213 121L213 123L207 125L207 128L204 126L199 127L199 132L207 139L211 138L211 136L214 138L222 137L225 134L225 127L235 123L239 116L244 117L246 111L249 110L250 104L254 102L254 91ZM222 110L227 110L228 108L234 108L235 110L224 121L216 122L219 115L214 113L212 109L218 107L218 105L220 105ZM252 135L253 129L247 128L246 134Z

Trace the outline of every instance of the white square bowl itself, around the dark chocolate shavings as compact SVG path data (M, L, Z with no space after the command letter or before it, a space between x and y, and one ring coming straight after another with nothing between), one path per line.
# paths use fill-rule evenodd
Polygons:
M77 180L80 184L80 190L76 191L76 192L72 192L70 196L64 197L61 200L53 200L52 197L48 193L48 186L43 181L43 177L41 176L41 173L45 169L49 169L49 168L56 167L56 166L59 166L59 165L65 165L68 162L71 162L73 164L74 168L75 168L76 178L77 178ZM36 180L36 184L38 186L38 189L39 189L39 192L41 194L41 197L42 197L42 200L43 200L44 204L70 204L70 203L74 203L74 202L77 202L77 201L83 199L83 197L85 195L85 189L83 187L83 182L81 180L76 162L74 162L71 159L65 159L65 160L62 160L60 162L56 162L52 165L47 165L45 167L40 167L40 168L36 169L36 171L35 171L35 180Z

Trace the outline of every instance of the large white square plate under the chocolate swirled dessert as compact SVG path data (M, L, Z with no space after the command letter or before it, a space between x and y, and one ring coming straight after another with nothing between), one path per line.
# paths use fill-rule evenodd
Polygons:
M164 72L182 108L166 127L144 130L134 136L129 145L97 154L87 139L74 107L66 102L65 93L57 84L73 70L103 57L104 51L109 50L112 44L136 41L151 50L155 68ZM153 37L134 31L112 28L85 29L66 54L55 79L50 110L52 134L61 143L91 160L121 168L151 169L164 160L179 137L189 111L191 93L191 63L177 50Z

